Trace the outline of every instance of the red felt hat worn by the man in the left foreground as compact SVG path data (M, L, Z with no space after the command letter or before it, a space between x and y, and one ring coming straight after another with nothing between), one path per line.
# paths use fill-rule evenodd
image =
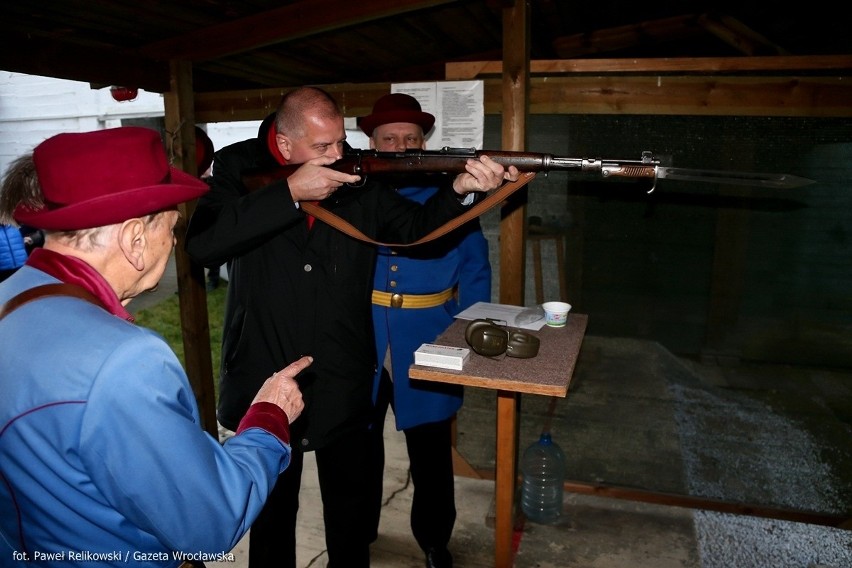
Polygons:
M120 223L195 199L209 189L169 166L160 135L125 126L58 134L33 150L44 207L19 205L15 220L53 231Z

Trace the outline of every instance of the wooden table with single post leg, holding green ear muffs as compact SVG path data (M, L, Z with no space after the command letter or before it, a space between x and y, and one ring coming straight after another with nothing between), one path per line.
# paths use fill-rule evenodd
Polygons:
M563 328L544 327L530 333L541 339L532 359L501 356L491 359L471 350L461 371L412 365L412 379L452 383L497 391L497 471L495 474L494 549L496 568L510 568L512 519L518 457L518 408L520 393L565 397L574 374L588 316L571 313ZM469 322L456 320L435 340L439 345L468 347L464 330Z

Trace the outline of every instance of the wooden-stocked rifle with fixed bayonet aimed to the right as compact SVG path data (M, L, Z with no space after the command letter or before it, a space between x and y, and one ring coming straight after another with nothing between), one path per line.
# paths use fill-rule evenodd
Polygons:
M660 179L756 185L773 189L799 187L814 183L813 180L789 174L665 167L660 165L660 160L649 151L642 152L642 157L638 160L602 160L599 158L566 158L534 152L476 150L474 148L445 147L441 150L413 149L404 152L350 149L341 159L326 167L362 177L379 174L459 174L465 171L464 166L468 159L477 159L483 155L506 168L515 166L522 172L567 171L599 173L605 179L651 180L653 185L648 193L654 190L657 180ZM298 165L287 165L248 170L243 172L243 184L249 191L254 191L274 181L286 179L298 167Z

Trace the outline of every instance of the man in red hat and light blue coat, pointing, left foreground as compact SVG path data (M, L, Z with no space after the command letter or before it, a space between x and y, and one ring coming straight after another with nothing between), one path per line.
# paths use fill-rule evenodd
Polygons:
M177 205L207 189L139 127L59 134L4 177L0 217L46 233L0 284L4 565L227 560L287 468L310 358L263 383L223 446L125 309L162 277Z

